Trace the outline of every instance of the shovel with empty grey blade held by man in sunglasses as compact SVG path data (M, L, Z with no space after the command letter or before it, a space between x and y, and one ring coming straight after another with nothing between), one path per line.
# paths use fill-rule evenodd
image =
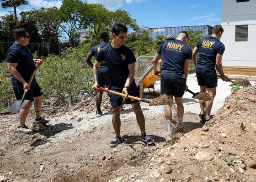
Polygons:
M32 73L32 76L30 77L30 80L28 82L28 85L30 86L35 74L36 74L36 71L37 71L37 68L38 66L40 66L43 62L40 62L40 63L37 63L38 65L35 67L33 73ZM15 102L13 102L11 104L11 106L9 107L9 111L12 112L12 113L15 113L17 111L20 111L23 107L25 107L27 105L27 103L30 101L30 99L25 99L25 96L27 95L27 91L28 89L26 89L23 93L23 96L21 99L19 100L16 100Z

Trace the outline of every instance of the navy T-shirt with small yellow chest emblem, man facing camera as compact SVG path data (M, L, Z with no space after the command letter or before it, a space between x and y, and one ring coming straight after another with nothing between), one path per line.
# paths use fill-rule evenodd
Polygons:
M113 86L124 86L129 75L128 65L136 62L133 51L128 47L122 45L118 49L114 49L111 44L103 47L96 56L96 60L99 62L106 60L110 85Z

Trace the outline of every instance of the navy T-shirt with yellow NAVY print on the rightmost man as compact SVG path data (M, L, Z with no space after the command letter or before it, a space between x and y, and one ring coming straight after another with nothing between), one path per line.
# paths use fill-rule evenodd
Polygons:
M196 47L199 49L199 57L196 68L208 68L215 70L217 54L223 55L225 46L217 38L208 36L200 40Z

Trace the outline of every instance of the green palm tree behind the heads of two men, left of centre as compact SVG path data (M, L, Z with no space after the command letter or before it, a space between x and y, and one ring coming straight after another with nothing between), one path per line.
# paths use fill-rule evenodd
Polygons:
M91 42L91 46L101 43L100 34L103 31L107 31L106 26L103 23L97 24L93 29L85 30L85 34L80 38L80 45Z

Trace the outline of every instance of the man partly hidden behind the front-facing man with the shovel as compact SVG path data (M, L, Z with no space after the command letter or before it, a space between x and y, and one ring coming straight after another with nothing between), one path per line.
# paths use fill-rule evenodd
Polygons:
M86 56L86 63L92 68L93 64L91 62L91 58L93 56L97 56L97 54L99 53L99 51L101 51L101 49L106 46L109 43L109 35L107 32L103 31L101 32L100 35L101 38L101 43L98 45L95 45L91 48L91 50L89 51L89 53ZM105 60L103 60L101 62L101 65L99 66L99 76L98 76L98 86L100 87L104 87L105 85L108 86L110 83L110 77L109 77L109 71L108 71L108 67L107 67L107 62ZM102 94L103 91L97 91L97 95L96 95L96 117L100 117L102 115L102 111L101 111L101 101L102 101Z

